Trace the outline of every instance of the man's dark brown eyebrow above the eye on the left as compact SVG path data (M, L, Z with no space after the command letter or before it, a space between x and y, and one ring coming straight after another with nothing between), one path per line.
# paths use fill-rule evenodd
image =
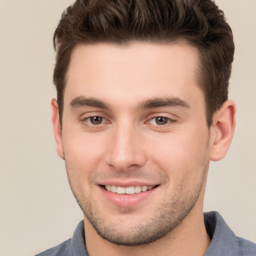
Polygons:
M70 102L71 108L78 108L82 106L92 106L103 109L110 109L109 105L97 98L86 98L84 96L75 97Z

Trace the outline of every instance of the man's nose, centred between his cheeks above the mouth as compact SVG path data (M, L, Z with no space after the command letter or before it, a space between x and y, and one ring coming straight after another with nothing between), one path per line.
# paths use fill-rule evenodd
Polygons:
M132 125L119 125L108 139L106 163L118 171L141 167L146 161L141 135Z

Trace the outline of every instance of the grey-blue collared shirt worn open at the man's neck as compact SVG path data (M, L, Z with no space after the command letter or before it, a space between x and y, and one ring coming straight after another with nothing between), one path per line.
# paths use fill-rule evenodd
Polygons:
M236 236L218 212L205 212L204 224L211 238L204 256L256 256L256 244ZM76 226L72 238L35 256L88 256L83 220Z

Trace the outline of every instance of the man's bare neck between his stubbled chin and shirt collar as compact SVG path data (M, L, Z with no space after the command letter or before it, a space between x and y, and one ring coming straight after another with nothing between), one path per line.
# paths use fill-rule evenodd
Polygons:
M210 239L204 227L203 212L196 207L184 218L182 223L166 236L145 245L122 246L110 243L101 238L87 218L84 217L85 243L90 256L134 255L134 256L174 256L204 255Z

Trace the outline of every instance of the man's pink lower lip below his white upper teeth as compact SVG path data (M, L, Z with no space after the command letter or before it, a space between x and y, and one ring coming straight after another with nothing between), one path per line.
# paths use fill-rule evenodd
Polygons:
M158 186L150 190L134 194L117 194L104 189L102 186L99 187L103 195L111 203L120 207L132 207L136 204L146 201L150 197L150 195L157 189Z

